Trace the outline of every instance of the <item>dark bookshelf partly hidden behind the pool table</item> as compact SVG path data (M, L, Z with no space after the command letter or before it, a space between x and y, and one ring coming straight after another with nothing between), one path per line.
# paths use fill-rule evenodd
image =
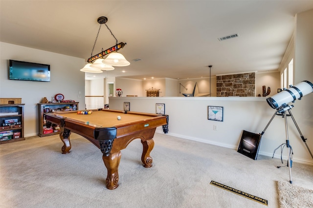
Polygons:
M39 103L38 104L39 132L38 136L45 137L60 133L60 127L45 121L45 114L57 111L78 110L78 103Z

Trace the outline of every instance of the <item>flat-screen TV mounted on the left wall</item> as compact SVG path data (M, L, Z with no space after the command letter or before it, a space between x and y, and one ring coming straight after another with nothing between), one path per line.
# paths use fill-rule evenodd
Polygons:
M50 82L50 65L9 60L9 79Z

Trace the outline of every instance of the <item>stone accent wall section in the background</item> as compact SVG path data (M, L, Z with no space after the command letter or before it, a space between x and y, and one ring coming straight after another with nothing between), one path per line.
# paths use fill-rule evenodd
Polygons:
M216 76L217 97L255 97L255 72Z

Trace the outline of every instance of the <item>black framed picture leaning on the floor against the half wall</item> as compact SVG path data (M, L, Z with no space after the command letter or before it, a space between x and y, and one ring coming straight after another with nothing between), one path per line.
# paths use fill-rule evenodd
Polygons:
M238 152L256 160L261 143L261 134L256 134L243 130Z

